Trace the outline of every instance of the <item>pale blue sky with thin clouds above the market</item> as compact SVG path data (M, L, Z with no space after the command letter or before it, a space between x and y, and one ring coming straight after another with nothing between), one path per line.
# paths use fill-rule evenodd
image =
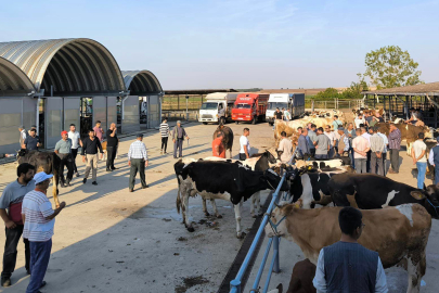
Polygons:
M164 90L347 87L399 46L439 81L439 1L4 1L0 41L90 38Z

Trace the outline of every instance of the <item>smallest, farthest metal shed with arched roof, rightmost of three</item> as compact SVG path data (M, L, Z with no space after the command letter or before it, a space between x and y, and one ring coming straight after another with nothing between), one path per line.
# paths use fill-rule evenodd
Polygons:
M121 132L138 131L141 124L158 127L164 92L157 77L149 71L124 71L122 75L129 95L121 100Z

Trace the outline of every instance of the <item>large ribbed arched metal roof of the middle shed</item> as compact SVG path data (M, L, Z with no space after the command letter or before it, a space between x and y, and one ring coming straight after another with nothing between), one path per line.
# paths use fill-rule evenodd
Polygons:
M125 90L119 66L109 51L91 39L0 42L0 56L20 67L39 91L61 94Z

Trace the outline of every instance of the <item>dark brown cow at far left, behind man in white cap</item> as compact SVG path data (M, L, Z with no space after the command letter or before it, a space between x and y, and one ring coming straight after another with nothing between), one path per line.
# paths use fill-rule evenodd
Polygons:
M46 174L53 174L53 201L56 207L60 207L60 201L57 194L60 193L57 186L60 183L60 167L61 158L54 152L39 152L39 151L28 151L22 149L17 152L16 156L17 163L28 163L33 165L36 173L44 171Z

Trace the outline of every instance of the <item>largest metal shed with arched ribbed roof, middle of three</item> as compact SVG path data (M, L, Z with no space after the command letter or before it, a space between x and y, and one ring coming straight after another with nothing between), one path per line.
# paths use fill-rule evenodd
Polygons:
M34 116L44 148L53 148L70 123L83 133L98 119L104 129L116 122L117 97L125 94L126 87L116 60L98 41L0 42L0 56L21 68L40 94Z

